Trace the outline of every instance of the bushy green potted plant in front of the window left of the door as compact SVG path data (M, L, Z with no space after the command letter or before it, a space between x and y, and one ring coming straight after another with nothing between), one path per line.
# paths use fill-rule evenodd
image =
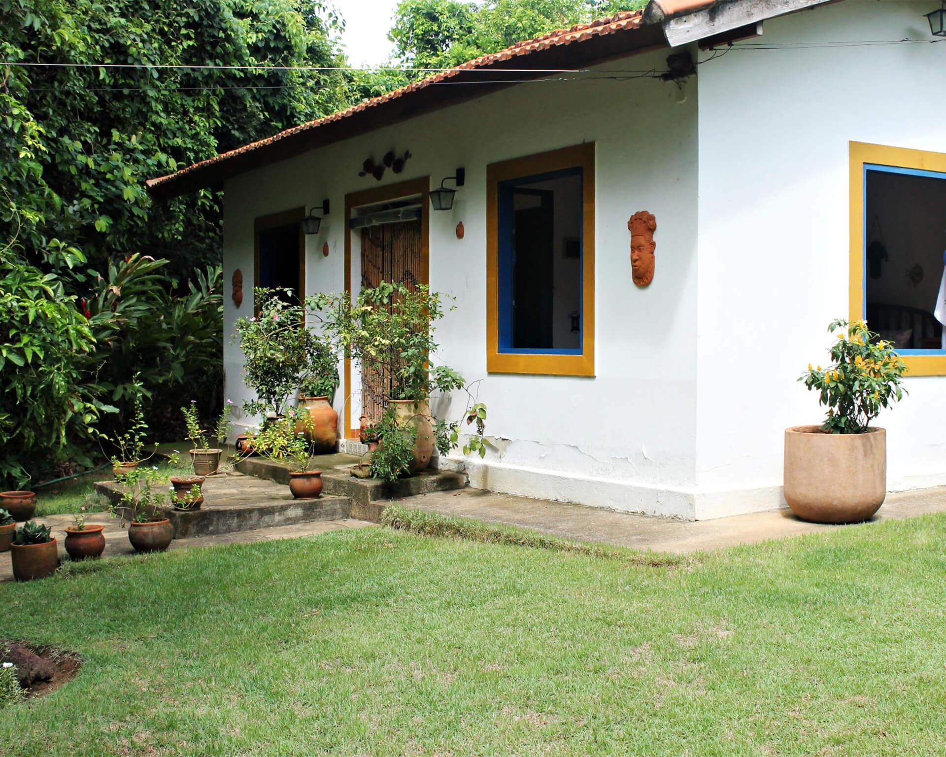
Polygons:
M280 290L255 290L259 316L240 318L236 337L244 355L243 378L256 399L243 403L247 413L284 413L286 399L299 386L317 343L305 324L305 310L289 305Z

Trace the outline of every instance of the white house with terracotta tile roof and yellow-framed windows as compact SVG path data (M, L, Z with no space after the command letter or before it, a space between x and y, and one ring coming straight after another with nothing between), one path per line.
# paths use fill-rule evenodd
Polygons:
M946 484L938 8L652 0L149 187L223 183L225 281L239 270L246 293L225 298L228 334L254 284L414 276L455 296L441 361L482 379L489 408L474 486L684 519L778 507L783 429L823 416L797 377L827 360L832 318L862 315L910 370L880 419L888 487ZM379 180L364 171L389 152ZM443 182L458 168L462 186ZM442 184L450 210L429 199ZM224 362L227 396L246 396L236 344Z

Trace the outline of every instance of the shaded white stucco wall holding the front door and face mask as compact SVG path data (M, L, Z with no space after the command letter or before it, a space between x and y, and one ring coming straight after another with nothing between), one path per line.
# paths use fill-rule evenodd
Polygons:
M681 92L655 79L607 79L616 70L663 68L667 52L610 62L583 81L542 81L314 150L227 182L224 276L244 275L239 312L226 298L228 335L253 309L254 218L331 201L323 234L307 238L307 292L342 290L346 193L378 186L361 162L412 152L383 184L429 175L431 185L465 167L451 212L430 216L429 280L457 309L438 326L440 361L482 379L494 441L470 462L473 485L526 496L692 518L696 442L695 84ZM682 102L680 101L682 100ZM486 166L594 141L596 165L596 376L486 373ZM657 216L657 273L631 280L628 218ZM454 229L464 222L465 236ZM322 255L327 241L328 257ZM353 245L357 256L357 244ZM357 274L352 277L358 282ZM247 392L236 344L224 350L227 396ZM343 391L336 405L341 410ZM461 397L455 401L462 402ZM460 407L454 408L459 414Z

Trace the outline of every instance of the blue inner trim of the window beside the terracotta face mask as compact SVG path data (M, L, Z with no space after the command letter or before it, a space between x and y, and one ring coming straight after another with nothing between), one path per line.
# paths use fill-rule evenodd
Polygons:
M576 349L546 349L539 347L511 347L513 341L513 190L517 186L546 182L561 176L579 178L579 197L585 197L585 170L583 167L562 168L532 176L520 176L499 182L497 185L497 225L499 227L498 245L498 284L499 284L499 347L498 352L507 355L581 355L582 347ZM582 205L582 218L579 224L578 258L578 343L585 343L585 207Z

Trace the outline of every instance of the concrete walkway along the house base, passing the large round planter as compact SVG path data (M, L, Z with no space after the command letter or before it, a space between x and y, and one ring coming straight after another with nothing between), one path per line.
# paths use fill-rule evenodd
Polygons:
M482 489L438 492L401 503L443 515L519 526L556 537L656 552L714 550L844 528L807 523L788 509L715 520L674 520L564 502L528 500ZM938 512L946 512L946 486L888 494L884 506L871 522Z

